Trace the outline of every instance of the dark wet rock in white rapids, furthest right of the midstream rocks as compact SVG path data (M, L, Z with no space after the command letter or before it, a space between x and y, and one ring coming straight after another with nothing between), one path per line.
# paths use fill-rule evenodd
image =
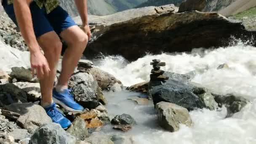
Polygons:
M231 117L234 113L240 112L246 104L248 104L248 100L241 96L234 96L232 94L227 95L217 95L213 94L215 101L219 104L219 107L223 105L227 107L227 117Z

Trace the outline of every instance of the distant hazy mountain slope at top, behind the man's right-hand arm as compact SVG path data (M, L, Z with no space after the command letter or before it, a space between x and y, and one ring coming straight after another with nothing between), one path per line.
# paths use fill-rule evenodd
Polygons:
M72 17L78 16L74 0L59 0ZM145 2L147 0L87 0L88 13L92 15L108 15L118 11L124 11Z

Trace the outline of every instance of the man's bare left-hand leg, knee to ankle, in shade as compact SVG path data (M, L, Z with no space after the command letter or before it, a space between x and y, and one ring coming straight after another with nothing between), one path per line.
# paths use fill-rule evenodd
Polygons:
M54 83L54 77L56 75L56 64L59 61L61 54L62 43L56 32L48 32L40 36L37 39L39 45L45 53L45 58L48 61L51 69L49 76L40 80L41 94L42 94L42 106L49 105L53 102L52 89Z

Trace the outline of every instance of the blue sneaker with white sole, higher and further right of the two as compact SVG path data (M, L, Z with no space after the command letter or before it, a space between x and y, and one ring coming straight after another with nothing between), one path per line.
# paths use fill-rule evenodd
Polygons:
M65 89L61 93L53 89L53 101L70 112L83 112L84 110L80 104L75 102L74 97L70 93L69 89Z

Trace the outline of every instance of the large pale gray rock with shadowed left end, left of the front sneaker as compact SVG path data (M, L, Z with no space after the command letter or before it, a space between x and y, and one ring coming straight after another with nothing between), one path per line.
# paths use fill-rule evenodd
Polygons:
M16 112L20 114L19 119L17 120L17 124L21 126L21 128L25 128L32 133L36 128L45 124L51 123L52 120L45 112L45 109L37 104L32 103L24 103L24 104L10 104L5 106L4 109L7 109L12 112Z

